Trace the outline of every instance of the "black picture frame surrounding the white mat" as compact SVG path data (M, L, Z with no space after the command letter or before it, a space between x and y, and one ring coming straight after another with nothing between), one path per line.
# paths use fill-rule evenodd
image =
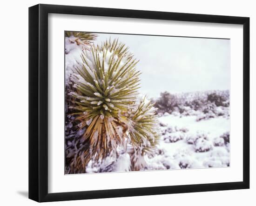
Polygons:
M48 193L48 13L243 25L243 181ZM249 18L39 4L29 8L29 199L98 199L249 188Z

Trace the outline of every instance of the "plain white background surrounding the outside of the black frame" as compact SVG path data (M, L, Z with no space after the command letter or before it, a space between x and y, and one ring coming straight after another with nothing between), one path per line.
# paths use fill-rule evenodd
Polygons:
M27 199L28 191L28 7L37 3L64 4L90 7L113 7L182 13L204 13L250 17L251 105L256 103L256 13L254 1L232 0L24 0L2 1L0 12L0 204L38 205ZM253 94L254 92L254 94ZM251 106L252 107L252 106ZM253 116L253 117L252 117ZM256 123L256 109L251 108L251 127ZM44 205L255 205L256 152L253 140L256 129L251 129L251 188L205 193L186 193L115 199L93 199L46 203Z

